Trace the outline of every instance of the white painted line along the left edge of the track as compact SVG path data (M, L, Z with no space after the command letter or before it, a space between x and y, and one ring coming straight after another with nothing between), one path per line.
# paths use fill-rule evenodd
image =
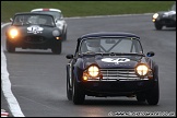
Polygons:
M1 25L1 30L5 25L8 25L8 24ZM9 105L9 108L10 108L12 115L14 117L24 117L24 115L19 106L19 103L11 91L11 82L9 80L9 72L7 70L7 58L3 52L2 45L1 45L1 88L4 94L4 97L8 101L8 105Z

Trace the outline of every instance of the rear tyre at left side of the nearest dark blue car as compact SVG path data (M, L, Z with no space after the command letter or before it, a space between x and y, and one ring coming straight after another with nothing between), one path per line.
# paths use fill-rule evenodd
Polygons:
M68 97L69 101L72 101L72 90L71 90L71 86L70 86L70 80L69 80L68 72L67 72L67 97Z

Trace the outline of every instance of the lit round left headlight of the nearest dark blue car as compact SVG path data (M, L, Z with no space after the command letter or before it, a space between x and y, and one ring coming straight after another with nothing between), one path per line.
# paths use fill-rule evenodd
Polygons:
M91 66L87 69L87 73L91 78L97 78L99 75L99 69L97 66Z

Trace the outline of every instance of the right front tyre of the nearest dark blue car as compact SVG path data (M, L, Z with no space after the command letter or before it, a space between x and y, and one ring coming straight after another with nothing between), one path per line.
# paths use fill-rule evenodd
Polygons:
M157 105L158 101L160 101L160 85L158 85L158 67L155 66L154 68L154 86L153 88L149 90L146 92L146 102L149 103L149 105Z

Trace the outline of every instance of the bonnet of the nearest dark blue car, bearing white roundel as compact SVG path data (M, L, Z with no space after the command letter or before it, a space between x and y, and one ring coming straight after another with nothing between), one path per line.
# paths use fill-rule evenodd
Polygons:
M83 67L96 63L102 69L134 69L145 62L143 56L83 56Z

